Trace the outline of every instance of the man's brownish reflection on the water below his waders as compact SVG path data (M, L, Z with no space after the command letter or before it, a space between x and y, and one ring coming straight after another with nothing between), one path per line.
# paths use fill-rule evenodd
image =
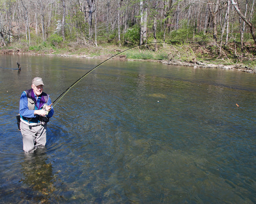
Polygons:
M48 156L44 149L37 149L36 152L25 155L24 161L21 163L21 172L24 174L21 181L27 184L31 190L37 191L39 196L41 194L46 202L48 195L55 191L52 165L47 163L47 159Z

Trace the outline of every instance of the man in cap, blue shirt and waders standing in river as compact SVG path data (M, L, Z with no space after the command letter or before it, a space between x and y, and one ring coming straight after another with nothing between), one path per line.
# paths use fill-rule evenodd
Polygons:
M54 111L49 95L43 92L43 86L43 80L36 77L32 80L32 89L21 94L20 127L25 152L34 152L46 144L47 122Z

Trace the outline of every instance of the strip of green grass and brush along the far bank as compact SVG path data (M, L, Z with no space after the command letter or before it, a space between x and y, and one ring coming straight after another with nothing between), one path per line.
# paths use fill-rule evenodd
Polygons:
M122 45L118 43L102 43L95 45L85 45L84 43L62 41L59 36L53 36L46 42L34 41L31 45L27 42L13 42L12 46L2 47L0 49L20 50L23 53L33 54L52 54L52 55L73 55L86 57L112 57L134 45ZM252 53L241 53L239 49L234 52L234 46L230 44L222 49L219 54L219 47L213 43L184 43L171 42L168 44L141 46L139 48L130 49L122 53L122 57L134 60L178 60L184 62L195 63L202 61L210 64L232 65L236 63L245 64L250 68L256 68ZM250 45L248 45L250 46ZM254 47L254 46L251 46ZM255 48L254 48L255 49ZM242 56L242 57L241 57Z

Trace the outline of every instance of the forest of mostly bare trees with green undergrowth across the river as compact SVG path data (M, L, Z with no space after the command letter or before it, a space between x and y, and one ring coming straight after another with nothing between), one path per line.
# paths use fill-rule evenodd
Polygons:
M165 42L255 66L255 25L255 0L0 0L0 49L97 53Z

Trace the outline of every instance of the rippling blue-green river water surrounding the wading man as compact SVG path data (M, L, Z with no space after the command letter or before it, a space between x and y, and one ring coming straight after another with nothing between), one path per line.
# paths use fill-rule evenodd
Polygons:
M256 75L236 70L109 60L25 155L22 91L39 76L54 101L101 62L0 56L0 203L256 203Z

